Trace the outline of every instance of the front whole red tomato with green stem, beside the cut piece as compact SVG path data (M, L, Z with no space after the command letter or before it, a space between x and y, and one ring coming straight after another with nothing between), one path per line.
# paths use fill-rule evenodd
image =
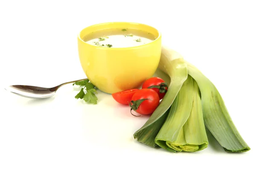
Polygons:
M131 98L131 109L140 114L152 114L159 105L159 96L156 91L143 88Z

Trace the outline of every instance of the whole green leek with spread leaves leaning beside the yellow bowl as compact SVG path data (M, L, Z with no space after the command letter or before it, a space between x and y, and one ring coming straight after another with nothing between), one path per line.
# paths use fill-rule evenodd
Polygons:
M204 74L166 47L162 47L158 68L169 75L169 89L145 125L134 133L134 139L172 152L199 151L208 145L204 122L225 151L250 150L218 90Z

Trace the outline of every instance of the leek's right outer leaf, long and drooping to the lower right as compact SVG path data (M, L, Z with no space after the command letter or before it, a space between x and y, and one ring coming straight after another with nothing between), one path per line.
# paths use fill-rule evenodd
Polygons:
M187 64L189 75L195 79L201 91L204 124L225 151L249 151L250 147L236 129L215 85L194 65Z

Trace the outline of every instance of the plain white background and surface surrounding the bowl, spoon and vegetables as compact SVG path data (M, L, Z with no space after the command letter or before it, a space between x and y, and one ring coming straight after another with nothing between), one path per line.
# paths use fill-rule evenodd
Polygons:
M255 8L253 0L1 0L0 170L255 169ZM111 95L88 105L72 85L44 100L4 90L84 78L77 35L112 21L158 28L163 44L215 84L251 150L225 153L209 136L198 153L169 153L134 140L148 117L131 116Z

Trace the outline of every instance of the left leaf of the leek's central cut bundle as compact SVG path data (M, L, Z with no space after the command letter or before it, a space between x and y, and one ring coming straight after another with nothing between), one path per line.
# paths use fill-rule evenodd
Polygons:
M156 144L166 150L182 151L179 145L186 144L183 125L189 118L193 102L193 80L188 77L183 83L162 128L155 138Z

